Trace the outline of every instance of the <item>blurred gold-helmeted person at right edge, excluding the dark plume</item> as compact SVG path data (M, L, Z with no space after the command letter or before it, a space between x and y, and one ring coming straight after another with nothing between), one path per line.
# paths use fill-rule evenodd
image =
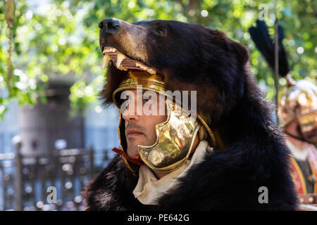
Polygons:
M279 104L297 193L317 193L317 86L305 79L289 84Z

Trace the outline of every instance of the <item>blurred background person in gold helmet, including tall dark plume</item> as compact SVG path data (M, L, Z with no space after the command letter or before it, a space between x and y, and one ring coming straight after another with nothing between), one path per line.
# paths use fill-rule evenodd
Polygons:
M275 21L275 34L278 34L275 38L278 41L270 37L262 20L256 20L256 26L250 27L249 33L256 48L275 72L276 93L278 76L287 80L280 98L275 96L278 99L275 103L279 106L278 118L285 128L286 143L292 153L292 175L297 193L317 193L317 88L309 80L295 82L290 76L287 52L282 44L284 31L276 25L278 21ZM278 55L278 67L275 65L275 53Z

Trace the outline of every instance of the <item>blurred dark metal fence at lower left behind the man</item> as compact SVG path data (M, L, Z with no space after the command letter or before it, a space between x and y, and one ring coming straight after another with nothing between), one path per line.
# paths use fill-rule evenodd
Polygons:
M0 154L0 210L84 210L82 188L110 160L92 148L28 155L20 148Z

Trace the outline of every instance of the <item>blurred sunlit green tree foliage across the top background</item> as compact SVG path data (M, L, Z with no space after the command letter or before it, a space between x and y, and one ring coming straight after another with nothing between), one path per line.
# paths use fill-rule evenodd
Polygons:
M285 49L289 53L294 79L316 79L316 1L263 0L69 0L15 2L13 26L13 75L6 82L8 66L8 25L6 1L0 1L0 115L6 102L17 98L20 104L45 101L44 89L50 80L73 82L70 100L73 109L94 101L104 82L103 55L99 49L98 23L109 17L133 23L137 20L180 20L199 23L225 32L246 45L251 71L268 98L273 98L273 72L250 39L248 28L259 17L260 4L268 9L266 23L274 34L277 15L285 29ZM46 3L45 3L46 2ZM280 85L285 85L280 79Z

